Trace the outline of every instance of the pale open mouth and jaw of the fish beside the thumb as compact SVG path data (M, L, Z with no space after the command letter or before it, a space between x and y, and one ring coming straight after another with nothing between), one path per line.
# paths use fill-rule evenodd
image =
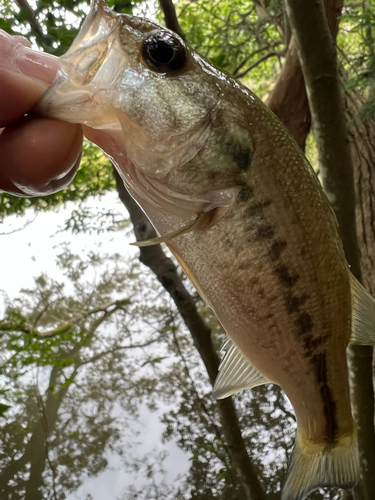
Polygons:
M127 24L128 16L113 12L103 0L93 0L79 34L60 57L52 86L33 112L92 128L120 129L111 89L129 66L130 56L122 46Z

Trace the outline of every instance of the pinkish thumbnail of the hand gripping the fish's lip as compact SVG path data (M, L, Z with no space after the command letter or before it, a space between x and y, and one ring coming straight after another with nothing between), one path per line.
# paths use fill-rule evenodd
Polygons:
M14 62L26 76L46 83L52 83L59 67L58 58L17 44L14 48Z

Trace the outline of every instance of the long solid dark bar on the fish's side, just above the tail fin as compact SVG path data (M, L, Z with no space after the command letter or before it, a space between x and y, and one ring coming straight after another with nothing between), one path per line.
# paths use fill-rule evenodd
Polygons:
M320 339L320 342L321 341L322 339ZM329 387L327 380L326 353L323 352L320 354L314 354L311 357L311 361L313 363L315 377L318 382L320 395L323 401L323 412L326 421L326 443L329 445L333 445L337 441L339 428L336 418L336 402L332 397L331 388Z

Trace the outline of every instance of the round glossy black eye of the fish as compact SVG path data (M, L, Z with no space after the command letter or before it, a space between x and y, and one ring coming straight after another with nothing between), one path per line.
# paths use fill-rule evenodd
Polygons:
M142 56L147 65L158 73L180 71L186 63L186 47L170 33L153 34L143 42Z

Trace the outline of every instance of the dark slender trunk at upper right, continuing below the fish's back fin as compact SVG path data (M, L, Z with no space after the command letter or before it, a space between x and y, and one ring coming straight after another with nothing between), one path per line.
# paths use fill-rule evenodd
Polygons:
M297 0L286 0L286 4L308 89L323 185L338 218L347 260L353 274L360 279L354 209L354 169L337 73L336 53L324 7L319 0L305 1L303 8ZM363 476L356 495L361 500L375 498L375 481L372 477L375 441L370 351L371 348L355 347L350 356ZM367 398L370 406L366 404ZM363 403L365 406L361 406ZM366 406L370 411L366 411Z

